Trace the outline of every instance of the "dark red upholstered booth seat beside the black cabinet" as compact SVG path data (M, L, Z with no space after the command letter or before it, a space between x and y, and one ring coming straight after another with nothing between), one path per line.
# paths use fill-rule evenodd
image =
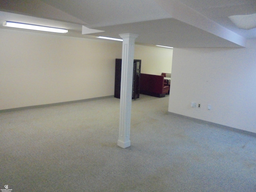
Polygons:
M164 86L164 76L140 74L140 93L154 97L164 97L170 90L169 86Z

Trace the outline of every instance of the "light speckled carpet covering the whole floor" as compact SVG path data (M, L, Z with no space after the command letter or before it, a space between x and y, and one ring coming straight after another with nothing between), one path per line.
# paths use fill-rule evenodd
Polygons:
M131 147L117 146L119 99L0 113L0 189L12 192L254 192L256 138L168 114L168 96L132 101Z

